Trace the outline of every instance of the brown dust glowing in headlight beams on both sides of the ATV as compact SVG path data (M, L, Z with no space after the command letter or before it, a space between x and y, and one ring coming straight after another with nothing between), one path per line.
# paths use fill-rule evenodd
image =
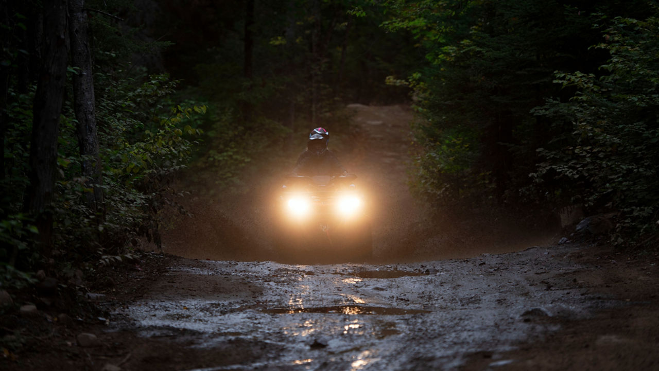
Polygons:
M353 130L333 132L330 148L366 194L372 220L374 262L419 262L470 258L480 254L522 250L555 241L546 225L522 227L517 215L488 210L462 210L443 215L416 200L409 190L413 166L409 107L351 104ZM290 165L295 159L290 160ZM199 185L177 200L192 216L168 215L163 226L163 252L200 260L278 260L272 246L273 199L281 173L246 175L241 192L209 192Z

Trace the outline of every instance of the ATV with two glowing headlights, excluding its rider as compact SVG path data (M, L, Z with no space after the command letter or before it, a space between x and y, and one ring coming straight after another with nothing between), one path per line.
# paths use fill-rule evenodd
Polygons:
M364 262L371 226L355 175L291 175L277 197L275 248L287 263Z

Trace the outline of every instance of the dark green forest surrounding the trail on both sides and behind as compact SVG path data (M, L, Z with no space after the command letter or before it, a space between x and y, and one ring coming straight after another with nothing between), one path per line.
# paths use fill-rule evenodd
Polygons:
M310 128L349 130L347 103L412 105L409 184L437 210L581 205L615 215L609 243L656 248L658 14L649 0L3 0L0 287L130 259L179 208L171 182L241 186Z

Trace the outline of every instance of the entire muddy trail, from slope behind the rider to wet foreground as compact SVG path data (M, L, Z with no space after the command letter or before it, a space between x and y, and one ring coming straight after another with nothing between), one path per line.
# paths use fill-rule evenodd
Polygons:
M163 236L171 255L145 253L90 295L97 324L10 368L659 370L657 254L552 244L556 231L503 216L432 219L407 185L411 113L350 108L358 136L337 152L375 204L372 261L280 262L277 175L196 196ZM76 345L81 331L100 343Z

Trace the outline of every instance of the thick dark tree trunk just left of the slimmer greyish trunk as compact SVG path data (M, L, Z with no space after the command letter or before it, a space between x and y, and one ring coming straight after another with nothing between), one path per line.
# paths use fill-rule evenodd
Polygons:
M67 80L69 37L67 0L43 2L41 68L34 96L30 146L30 184L24 210L35 218L42 254L49 256L53 237L53 200L57 169L57 136Z

